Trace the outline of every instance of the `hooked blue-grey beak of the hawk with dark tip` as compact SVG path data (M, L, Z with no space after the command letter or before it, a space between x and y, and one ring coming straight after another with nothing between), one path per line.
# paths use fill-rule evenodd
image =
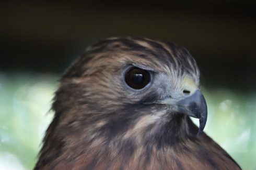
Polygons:
M207 121L207 105L205 98L199 89L180 101L177 102L177 112L187 114L188 116L199 119L199 130L197 135L200 135Z

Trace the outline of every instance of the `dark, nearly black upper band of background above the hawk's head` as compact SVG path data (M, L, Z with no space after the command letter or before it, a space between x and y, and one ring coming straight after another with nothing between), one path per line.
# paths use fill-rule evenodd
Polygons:
M188 48L203 85L256 86L255 1L0 3L0 72L61 74L88 44L145 36Z

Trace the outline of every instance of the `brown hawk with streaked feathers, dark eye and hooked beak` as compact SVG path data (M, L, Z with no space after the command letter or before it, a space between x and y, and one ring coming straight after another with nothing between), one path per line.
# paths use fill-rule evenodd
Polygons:
M172 43L128 37L88 47L61 79L34 169L240 169L202 132L199 76Z

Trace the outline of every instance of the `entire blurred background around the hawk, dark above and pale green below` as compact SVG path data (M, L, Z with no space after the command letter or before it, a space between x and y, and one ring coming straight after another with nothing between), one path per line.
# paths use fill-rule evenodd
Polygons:
M0 169L34 166L57 80L88 44L110 36L188 48L202 72L205 132L243 169L256 169L255 7L250 0L1 1Z

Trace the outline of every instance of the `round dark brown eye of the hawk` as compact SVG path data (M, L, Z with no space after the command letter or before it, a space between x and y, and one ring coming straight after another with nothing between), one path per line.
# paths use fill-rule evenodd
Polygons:
M136 67L125 74L125 83L134 89L142 89L150 82L150 73Z

